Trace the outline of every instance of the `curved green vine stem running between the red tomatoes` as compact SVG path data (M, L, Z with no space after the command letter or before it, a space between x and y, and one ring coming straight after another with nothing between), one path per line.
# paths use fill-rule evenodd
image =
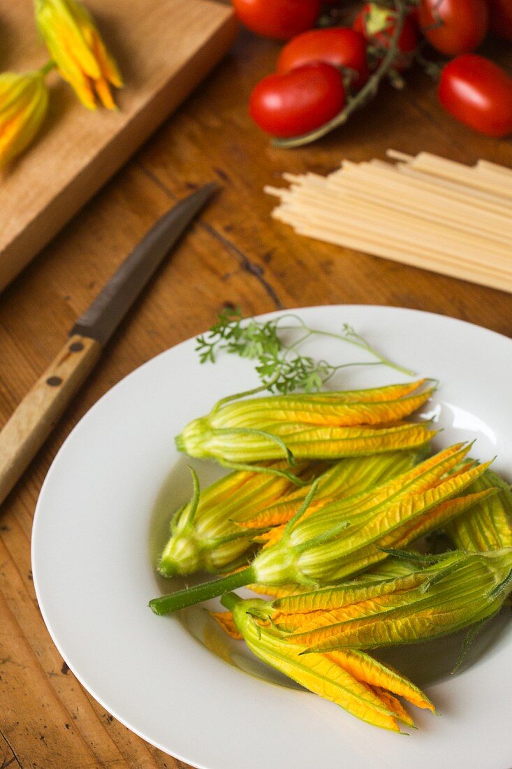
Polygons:
M293 138L286 139L274 139L274 141L272 141L272 145L274 147L289 149L310 144L311 141L316 141L316 139L325 136L326 134L333 131L334 128L337 128L340 125L344 125L348 118L350 118L352 112L355 112L357 109L364 107L367 102L374 98L378 87L381 84L381 80L393 68L394 58L397 55L398 39L400 38L402 29L404 27L407 3L404 2L404 0L393 0L393 5L397 14L396 26L394 28L394 33L393 37L391 38L389 48L387 49L387 53L382 60L381 66L377 69L377 72L375 72L375 74L368 79L367 83L363 86L363 88L361 88L361 91L359 91L354 96L354 98L348 100L347 105L345 105L341 112L332 118L329 122L324 123L324 125L321 125L320 128L315 128L314 131L310 131L308 134L303 134L302 136L295 136Z

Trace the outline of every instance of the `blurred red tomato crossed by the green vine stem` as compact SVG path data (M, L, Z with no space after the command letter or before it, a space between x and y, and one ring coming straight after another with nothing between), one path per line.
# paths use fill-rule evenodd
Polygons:
M396 13L383 8L377 3L368 2L354 19L352 27L361 32L371 45L384 53L389 48L396 28ZM417 22L413 13L407 15L398 38L399 54L393 66L398 71L407 69L412 63L412 55L417 48Z

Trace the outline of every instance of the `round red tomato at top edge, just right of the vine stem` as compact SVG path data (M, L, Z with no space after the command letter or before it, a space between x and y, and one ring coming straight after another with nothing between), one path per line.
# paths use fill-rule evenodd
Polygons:
M470 53L487 35L486 0L421 0L420 28L447 56Z

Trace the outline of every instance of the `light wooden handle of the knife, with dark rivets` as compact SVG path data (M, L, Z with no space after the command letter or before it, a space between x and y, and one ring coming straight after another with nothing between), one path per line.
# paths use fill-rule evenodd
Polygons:
M98 361L95 339L72 336L0 431L0 504Z

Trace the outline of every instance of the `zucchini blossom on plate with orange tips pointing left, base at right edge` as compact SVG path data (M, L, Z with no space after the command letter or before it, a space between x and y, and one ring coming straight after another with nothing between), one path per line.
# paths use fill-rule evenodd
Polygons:
M404 576L279 598L274 621L288 629L294 624L288 641L303 651L374 649L440 638L470 625L477 629L512 590L512 548L418 560Z

